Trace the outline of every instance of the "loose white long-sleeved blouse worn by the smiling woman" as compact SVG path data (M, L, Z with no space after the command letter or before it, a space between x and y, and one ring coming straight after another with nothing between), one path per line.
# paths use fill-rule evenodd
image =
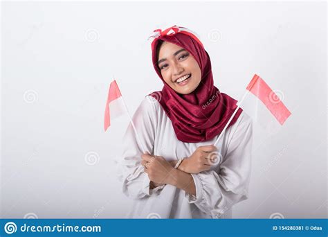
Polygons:
M192 174L196 195L170 184L149 189L141 154L147 151L173 161L189 157L199 146L214 144L219 135L199 143L179 141L171 120L152 96L145 96L132 120L139 139L130 123L119 161L122 191L135 200L127 218L232 218L233 205L248 198L253 130L247 114L242 112L217 143L221 161Z

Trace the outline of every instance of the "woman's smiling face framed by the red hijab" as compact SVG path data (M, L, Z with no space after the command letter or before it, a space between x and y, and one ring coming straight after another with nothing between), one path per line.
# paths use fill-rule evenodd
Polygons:
M163 42L157 63L167 85L179 94L190 94L201 82L199 64L188 51L176 44Z

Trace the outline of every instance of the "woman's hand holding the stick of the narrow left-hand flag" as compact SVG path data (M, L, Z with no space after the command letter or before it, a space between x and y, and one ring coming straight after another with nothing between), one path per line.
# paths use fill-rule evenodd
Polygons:
M145 173L148 174L152 182L158 184L170 184L172 175L170 172L174 169L164 157L143 154L141 164L145 167Z

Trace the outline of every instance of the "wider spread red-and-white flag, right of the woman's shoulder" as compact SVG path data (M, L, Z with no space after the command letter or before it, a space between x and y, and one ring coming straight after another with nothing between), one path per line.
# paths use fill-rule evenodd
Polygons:
M272 129L277 122L283 125L291 115L289 109L282 103L283 99L282 91L271 89L255 74L246 87L246 94L237 105L262 127Z

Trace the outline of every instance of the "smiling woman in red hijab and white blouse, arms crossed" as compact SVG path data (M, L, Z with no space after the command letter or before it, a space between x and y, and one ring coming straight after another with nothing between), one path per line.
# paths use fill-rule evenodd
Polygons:
M136 132L129 125L125 133L122 191L136 200L129 218L232 218L233 205L248 197L252 122L239 109L223 131L237 100L213 85L194 33L154 32L152 62L164 87L145 97Z

